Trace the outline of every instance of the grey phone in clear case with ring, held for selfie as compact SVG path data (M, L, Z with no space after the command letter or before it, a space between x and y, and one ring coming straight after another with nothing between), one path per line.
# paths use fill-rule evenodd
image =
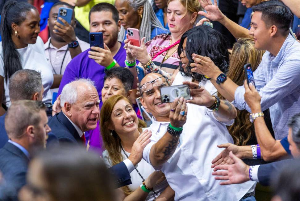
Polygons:
M180 97L189 100L191 98L190 87L187 84L162 87L160 88L160 97L163 103L174 102L175 98Z

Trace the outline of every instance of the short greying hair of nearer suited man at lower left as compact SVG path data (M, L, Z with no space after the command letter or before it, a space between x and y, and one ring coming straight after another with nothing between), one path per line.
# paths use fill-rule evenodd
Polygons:
M5 129L9 138L21 138L30 125L41 121L40 111L46 110L41 101L14 101L5 116Z

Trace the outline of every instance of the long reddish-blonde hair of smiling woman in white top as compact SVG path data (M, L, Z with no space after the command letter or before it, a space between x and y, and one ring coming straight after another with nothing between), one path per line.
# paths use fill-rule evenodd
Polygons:
M111 135L110 134L111 131L110 129L108 129L108 126L112 124L110 118L111 113L113 112L113 109L117 104L117 102L119 102L120 100L125 100L132 105L132 103L125 96L115 95L115 96L111 96L103 103L101 108L101 113L100 113L101 135L102 135L104 147L108 152L108 158L110 159L112 165L116 165L119 162L122 162L124 160L121 154L120 137L115 131L113 131L112 132L113 135ZM141 128L145 128L146 126L147 124L144 121L139 119L139 125L138 125L139 131L141 132ZM122 187L122 190L126 196L131 193L128 186Z

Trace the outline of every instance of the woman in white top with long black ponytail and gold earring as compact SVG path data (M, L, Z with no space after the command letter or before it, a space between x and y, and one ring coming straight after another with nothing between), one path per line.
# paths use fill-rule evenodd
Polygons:
M0 44L0 105L10 105L9 78L20 69L41 72L44 86L43 101L51 102L53 74L44 52L40 33L40 14L27 2L8 1L1 15ZM0 108L0 114L4 113Z

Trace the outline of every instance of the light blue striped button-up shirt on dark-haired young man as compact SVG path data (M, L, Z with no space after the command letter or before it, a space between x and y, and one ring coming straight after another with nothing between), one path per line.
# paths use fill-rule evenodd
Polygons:
M277 56L265 52L253 76L261 110L269 108L275 138L283 139L288 135L288 121L300 113L300 43L289 34ZM239 110L251 112L244 93L244 86L238 87L232 103Z

